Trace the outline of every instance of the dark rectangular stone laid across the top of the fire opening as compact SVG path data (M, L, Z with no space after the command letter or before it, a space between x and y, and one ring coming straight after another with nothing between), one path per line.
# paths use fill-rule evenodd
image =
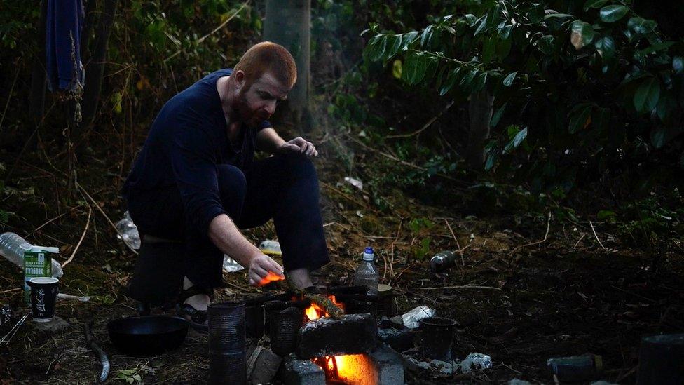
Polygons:
M301 359L370 353L378 345L378 327L367 313L312 320L298 335L296 355Z

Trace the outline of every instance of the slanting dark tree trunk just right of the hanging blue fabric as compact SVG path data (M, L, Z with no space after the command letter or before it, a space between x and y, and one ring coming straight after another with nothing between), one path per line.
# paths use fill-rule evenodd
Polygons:
M87 143L90 125L93 124L93 119L95 119L95 114L97 113L100 90L102 90L104 65L107 64L107 45L109 44L111 26L114 24L117 2L118 0L104 0L104 11L97 29L97 36L95 37L95 48L93 48L93 55L88 62L88 67L86 67L86 84L83 88L83 101L81 102L83 120L81 121L80 128L78 128L78 133L74 135L74 139L79 144Z

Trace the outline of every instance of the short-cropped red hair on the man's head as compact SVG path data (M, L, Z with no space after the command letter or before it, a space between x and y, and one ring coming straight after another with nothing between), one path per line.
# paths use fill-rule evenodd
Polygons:
M262 75L272 74L283 86L294 86L297 80L297 67L294 58L280 44L262 41L249 48L233 71L245 72L247 88Z

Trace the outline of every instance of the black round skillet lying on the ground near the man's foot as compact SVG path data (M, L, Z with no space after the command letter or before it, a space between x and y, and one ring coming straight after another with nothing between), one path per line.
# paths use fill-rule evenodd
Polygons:
M180 317L137 316L111 320L107 330L116 350L130 356L149 356L177 349L188 326Z

